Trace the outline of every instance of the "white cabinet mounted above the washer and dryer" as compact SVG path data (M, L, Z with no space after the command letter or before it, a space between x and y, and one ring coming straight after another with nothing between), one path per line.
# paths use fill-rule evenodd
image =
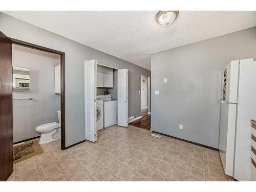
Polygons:
M113 69L97 66L97 88L113 88Z

